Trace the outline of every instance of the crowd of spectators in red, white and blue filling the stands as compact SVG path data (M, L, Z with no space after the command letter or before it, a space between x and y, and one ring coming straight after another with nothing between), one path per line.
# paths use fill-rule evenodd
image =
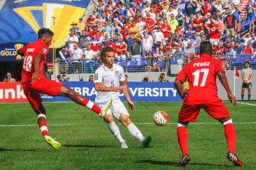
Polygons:
M169 64L196 59L202 41L211 42L216 58L223 60L227 68L231 59L243 55L254 60L256 1L92 0L92 3L95 8L88 18L70 23L66 45L57 56L60 74L93 73L99 51L106 46L116 50L117 63L148 63L142 69L146 72L162 72ZM242 35L245 28L249 32Z

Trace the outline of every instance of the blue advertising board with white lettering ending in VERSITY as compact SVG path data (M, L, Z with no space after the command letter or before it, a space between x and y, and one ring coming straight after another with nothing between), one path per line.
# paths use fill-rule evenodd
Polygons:
M91 101L95 100L97 91L94 89L93 82L65 81L63 84L74 89L78 94L89 98ZM128 82L127 84L132 101L182 101L173 82ZM122 92L120 92L119 97L121 98L121 101L126 101L126 97ZM69 98L60 96L51 97L42 95L42 98L43 101L71 101Z

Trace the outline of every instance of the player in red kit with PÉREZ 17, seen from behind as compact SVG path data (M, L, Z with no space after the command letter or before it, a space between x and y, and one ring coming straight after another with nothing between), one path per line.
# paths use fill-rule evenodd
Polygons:
M190 161L187 147L187 140L189 138L187 125L190 121L196 121L201 108L208 115L211 115L212 118L223 124L228 142L228 160L233 162L235 166L243 166L243 162L235 154L235 128L232 119L230 119L228 109L222 103L221 98L218 97L216 77L218 77L226 89L230 102L234 101L235 106L237 101L230 91L225 70L222 67L222 61L211 57L212 52L211 42L201 42L200 58L185 65L174 81L174 86L179 96L184 100L179 111L179 121L177 124L177 136L182 150L182 159L179 161L178 166L186 166ZM189 91L187 96L185 96L182 84L187 79L189 80Z

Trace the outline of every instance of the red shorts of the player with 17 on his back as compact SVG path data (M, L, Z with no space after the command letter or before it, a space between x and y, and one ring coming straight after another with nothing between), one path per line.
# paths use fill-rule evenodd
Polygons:
M199 115L201 108L211 115L212 118L217 120L221 118L227 118L229 116L228 109L222 103L222 101L216 101L214 103L199 104L199 105L182 105L179 111L179 120L183 123L196 122L196 117Z

